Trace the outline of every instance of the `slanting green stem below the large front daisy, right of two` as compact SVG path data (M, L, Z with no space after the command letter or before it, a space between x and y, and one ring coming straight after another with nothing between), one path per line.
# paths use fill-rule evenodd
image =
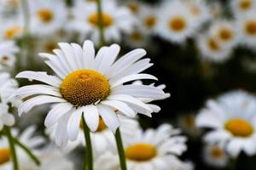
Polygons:
M115 141L119 151L119 162L120 162L121 170L126 170L127 167L126 167L125 151L124 151L124 146L123 146L122 137L121 137L119 128L116 130L116 133L115 133Z

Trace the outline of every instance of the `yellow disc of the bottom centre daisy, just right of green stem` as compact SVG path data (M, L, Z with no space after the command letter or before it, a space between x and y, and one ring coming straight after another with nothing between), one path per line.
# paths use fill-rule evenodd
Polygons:
M149 161L156 156L157 150L152 144L133 144L125 149L125 156L131 161Z

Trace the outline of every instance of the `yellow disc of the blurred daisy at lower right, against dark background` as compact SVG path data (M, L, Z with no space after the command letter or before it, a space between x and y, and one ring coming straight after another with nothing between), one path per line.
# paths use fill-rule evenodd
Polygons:
M239 118L230 119L225 123L225 128L237 137L248 137L253 133L253 126Z

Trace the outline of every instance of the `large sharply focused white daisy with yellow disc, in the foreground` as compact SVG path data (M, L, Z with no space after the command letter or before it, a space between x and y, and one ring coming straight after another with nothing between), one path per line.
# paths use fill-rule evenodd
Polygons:
M40 54L45 63L55 71L56 76L46 72L23 71L17 78L27 78L45 82L19 88L15 95L26 99L19 107L19 115L30 111L36 105L55 104L45 119L45 126L55 124L55 142L65 146L67 140L75 140L79 135L79 122L84 112L84 120L95 132L99 117L113 132L119 127L115 111L134 117L137 110L148 115L153 110L139 98L162 99L165 93L159 88L146 85L131 85L138 79L156 79L140 72L152 64L150 59L141 59L144 49L135 49L116 60L119 45L102 47L95 56L93 43L85 41L83 48L76 43L59 43L61 49L54 54ZM125 85L124 85L125 83ZM31 97L27 99L27 97Z

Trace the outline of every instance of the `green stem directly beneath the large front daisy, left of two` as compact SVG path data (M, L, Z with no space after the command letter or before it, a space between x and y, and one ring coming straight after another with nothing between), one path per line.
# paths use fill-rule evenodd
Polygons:
M93 155L92 155L92 148L91 148L91 142L90 142L90 129L89 127L87 127L84 121L84 116L82 116L82 122L83 122L83 128L84 128L84 138L86 143L84 170L92 170Z

